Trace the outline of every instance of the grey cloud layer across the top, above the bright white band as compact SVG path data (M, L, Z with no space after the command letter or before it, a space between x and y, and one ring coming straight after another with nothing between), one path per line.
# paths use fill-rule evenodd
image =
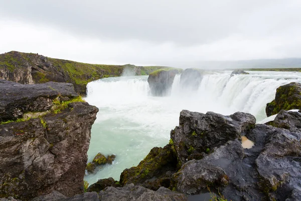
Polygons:
M208 44L242 34L264 38L300 23L298 1L1 1L0 17L85 37Z

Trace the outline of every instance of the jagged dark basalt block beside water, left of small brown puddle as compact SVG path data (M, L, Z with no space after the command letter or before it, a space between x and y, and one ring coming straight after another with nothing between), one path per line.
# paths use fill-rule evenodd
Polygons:
M229 140L241 138L241 133L255 125L255 117L237 112L223 116L213 112L206 114L183 110L180 125L171 131L171 139L178 157L178 167L187 160L201 159L214 147Z

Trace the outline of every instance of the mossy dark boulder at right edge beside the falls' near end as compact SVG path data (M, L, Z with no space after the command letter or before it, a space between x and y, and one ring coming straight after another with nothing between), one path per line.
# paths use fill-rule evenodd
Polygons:
M265 113L269 117L278 114L280 110L292 109L301 109L301 84L297 82L279 86L275 99L266 104Z

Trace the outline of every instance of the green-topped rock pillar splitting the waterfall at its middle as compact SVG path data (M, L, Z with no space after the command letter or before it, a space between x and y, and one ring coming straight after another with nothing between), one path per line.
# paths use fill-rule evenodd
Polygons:
M150 92L154 96L166 96L171 92L176 74L180 73L182 69L168 68L156 70L149 74L147 82L149 84Z

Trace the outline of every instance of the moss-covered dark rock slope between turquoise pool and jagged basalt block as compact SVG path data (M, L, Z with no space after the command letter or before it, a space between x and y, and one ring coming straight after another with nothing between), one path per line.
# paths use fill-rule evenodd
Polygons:
M136 167L123 170L120 184L134 183L153 190L160 186L169 187L176 166L177 158L171 145L155 147Z

